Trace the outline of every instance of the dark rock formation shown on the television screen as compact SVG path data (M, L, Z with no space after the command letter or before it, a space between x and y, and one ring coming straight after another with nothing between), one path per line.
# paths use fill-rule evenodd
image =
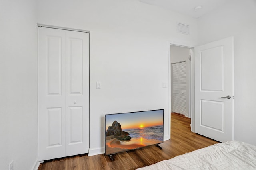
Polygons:
M130 140L131 137L128 136L130 135L128 132L122 131L121 124L118 123L117 121L114 121L112 123L112 126L108 127L108 130L106 131L106 136L111 136L114 135L119 140Z

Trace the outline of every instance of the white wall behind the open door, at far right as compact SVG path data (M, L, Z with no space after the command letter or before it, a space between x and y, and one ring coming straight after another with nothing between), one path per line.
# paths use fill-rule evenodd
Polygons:
M198 44L234 36L234 139L256 145L256 1L233 0L198 19Z

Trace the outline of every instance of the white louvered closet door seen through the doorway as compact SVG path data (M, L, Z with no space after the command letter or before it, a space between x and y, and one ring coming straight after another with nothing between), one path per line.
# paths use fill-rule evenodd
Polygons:
M186 113L186 62L172 64L172 112Z

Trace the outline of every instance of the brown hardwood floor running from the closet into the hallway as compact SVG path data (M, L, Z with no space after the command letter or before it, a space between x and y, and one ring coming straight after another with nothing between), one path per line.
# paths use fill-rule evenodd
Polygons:
M162 160L173 158L218 143L190 131L190 119L171 113L171 139L156 146L131 150L114 155L115 161L104 154L87 154L48 160L38 170L135 170Z

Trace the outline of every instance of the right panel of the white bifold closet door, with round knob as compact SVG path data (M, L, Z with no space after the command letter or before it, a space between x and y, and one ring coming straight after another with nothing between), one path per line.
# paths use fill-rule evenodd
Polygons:
M89 150L89 33L66 31L66 155Z

